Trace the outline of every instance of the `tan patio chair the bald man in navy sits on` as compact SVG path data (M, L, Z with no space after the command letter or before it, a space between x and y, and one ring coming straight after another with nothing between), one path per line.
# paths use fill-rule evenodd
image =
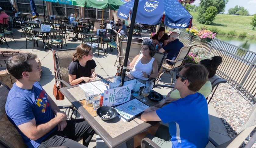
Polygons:
M186 60L186 57L188 55L188 53L190 52L191 48L194 47L196 45L189 45L189 46L184 46L180 49L180 52L178 54L178 56L176 57L175 60L169 60L169 59L166 59L166 61L170 61L170 62L173 62L173 65L169 65L166 61L163 63L162 65L162 68L163 68L163 71L161 72L161 74L158 76L158 78L161 78L161 76L164 74L164 73L168 73L171 75L171 83L165 83L165 82L162 82L164 84L168 84L168 85L172 85L174 83L172 83L172 78L173 78L173 75L175 74L172 69L176 68L176 67L180 67L183 65L184 63L184 60ZM156 80L157 83L160 82L160 80Z

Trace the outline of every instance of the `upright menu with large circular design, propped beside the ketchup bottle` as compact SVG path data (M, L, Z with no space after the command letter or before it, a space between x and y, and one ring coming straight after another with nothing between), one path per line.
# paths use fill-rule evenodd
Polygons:
M104 91L103 106L116 106L131 99L133 84Z

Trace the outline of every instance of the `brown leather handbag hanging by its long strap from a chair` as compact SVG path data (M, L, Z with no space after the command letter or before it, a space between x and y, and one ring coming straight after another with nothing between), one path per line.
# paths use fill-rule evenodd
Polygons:
M54 74L55 79L59 79L58 75L56 75L56 66L55 66L55 58L54 58L55 50L53 50L53 65L54 65ZM60 82L55 81L55 84L53 86L53 96L56 98L56 100L64 100L64 95L61 93L60 89Z

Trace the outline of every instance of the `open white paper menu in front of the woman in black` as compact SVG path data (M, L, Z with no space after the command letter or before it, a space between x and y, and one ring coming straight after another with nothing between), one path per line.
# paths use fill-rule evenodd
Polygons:
M85 83L85 84L81 84L79 86L85 92L86 91L91 91L94 94L101 94L101 93L104 92L104 90L107 90L107 88L108 88L108 86L105 83L101 82L101 81L94 81L94 82L90 82L90 83Z

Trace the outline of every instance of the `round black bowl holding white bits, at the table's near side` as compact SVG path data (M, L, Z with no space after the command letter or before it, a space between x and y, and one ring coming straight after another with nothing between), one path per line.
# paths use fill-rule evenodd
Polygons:
M116 109L110 106L101 106L96 113L102 120L110 120L117 116Z

